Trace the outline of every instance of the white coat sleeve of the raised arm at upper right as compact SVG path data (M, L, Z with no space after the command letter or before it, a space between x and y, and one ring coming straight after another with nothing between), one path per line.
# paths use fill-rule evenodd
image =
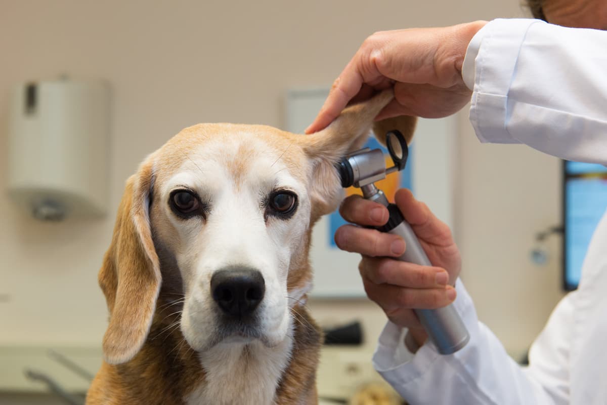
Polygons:
M490 21L470 41L462 68L478 138L607 164L606 49L601 30Z

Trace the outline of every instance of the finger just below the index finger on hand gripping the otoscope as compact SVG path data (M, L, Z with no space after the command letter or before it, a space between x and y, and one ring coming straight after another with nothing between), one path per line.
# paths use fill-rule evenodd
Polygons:
M341 250L365 256L398 257L405 253L405 241L398 235L373 229L343 225L335 231L335 243Z

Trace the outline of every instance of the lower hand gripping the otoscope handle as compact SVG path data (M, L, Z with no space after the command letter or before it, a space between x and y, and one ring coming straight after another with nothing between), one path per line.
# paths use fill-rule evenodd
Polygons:
M421 346L427 335L412 308L441 308L455 299L452 285L461 271L461 256L449 226L409 190L399 189L395 202L432 267L392 259L404 253L404 241L374 229L344 225L336 231L335 242L342 250L362 254L359 271L368 297L384 310L390 321L409 328L410 335ZM383 205L361 196L345 199L340 213L345 220L358 225L381 226L388 220L388 210Z

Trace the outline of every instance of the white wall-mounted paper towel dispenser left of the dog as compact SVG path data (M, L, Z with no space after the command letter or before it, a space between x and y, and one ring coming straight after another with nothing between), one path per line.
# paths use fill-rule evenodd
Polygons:
M107 208L109 88L61 79L16 86L8 117L8 196L38 219Z

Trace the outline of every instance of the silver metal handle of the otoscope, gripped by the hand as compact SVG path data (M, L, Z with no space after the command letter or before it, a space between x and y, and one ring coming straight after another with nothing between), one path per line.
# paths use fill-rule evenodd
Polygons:
M398 260L432 266L411 226L402 217L398 206L388 205L388 212L390 213L388 223L379 226L378 230L398 235L405 240L407 250L398 257ZM452 304L434 310L418 309L414 311L439 353L450 355L464 347L469 341L470 335L466 326Z

